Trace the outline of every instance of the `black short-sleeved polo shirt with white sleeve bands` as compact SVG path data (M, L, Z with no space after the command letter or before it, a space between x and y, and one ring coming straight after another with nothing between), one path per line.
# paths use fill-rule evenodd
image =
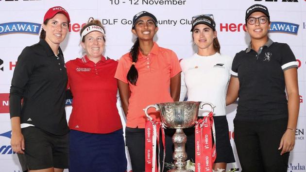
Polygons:
M238 52L232 77L239 79L235 120L277 120L288 118L284 71L297 68L289 46L271 39L258 52L251 48Z

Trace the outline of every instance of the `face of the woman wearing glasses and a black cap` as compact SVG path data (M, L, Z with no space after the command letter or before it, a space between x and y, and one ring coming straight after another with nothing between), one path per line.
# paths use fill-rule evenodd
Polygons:
M266 17L266 15L262 12L254 12L249 17ZM256 19L255 24L246 24L245 29L250 34L251 39L262 39L268 36L268 31L270 29L271 23L267 21L264 24L260 24L258 19Z

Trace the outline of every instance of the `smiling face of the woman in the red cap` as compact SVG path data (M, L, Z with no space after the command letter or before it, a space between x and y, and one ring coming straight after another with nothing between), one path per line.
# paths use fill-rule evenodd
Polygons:
M43 24L43 30L46 31L45 40L50 47L58 46L68 33L68 18L58 13L46 25Z

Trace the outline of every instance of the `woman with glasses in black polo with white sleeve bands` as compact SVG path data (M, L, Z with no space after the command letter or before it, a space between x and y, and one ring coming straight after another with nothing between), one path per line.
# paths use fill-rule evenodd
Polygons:
M246 11L249 47L233 60L226 104L237 98L235 144L242 172L287 172L299 113L297 62L285 43L268 37L268 8ZM286 98L286 92L287 98Z

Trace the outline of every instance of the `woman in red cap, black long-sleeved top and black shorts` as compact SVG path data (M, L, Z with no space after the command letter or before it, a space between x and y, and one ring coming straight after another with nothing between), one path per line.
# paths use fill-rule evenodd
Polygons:
M23 49L17 60L10 90L11 145L23 171L68 168L67 71L59 45L69 22L64 8L50 8L40 41Z

